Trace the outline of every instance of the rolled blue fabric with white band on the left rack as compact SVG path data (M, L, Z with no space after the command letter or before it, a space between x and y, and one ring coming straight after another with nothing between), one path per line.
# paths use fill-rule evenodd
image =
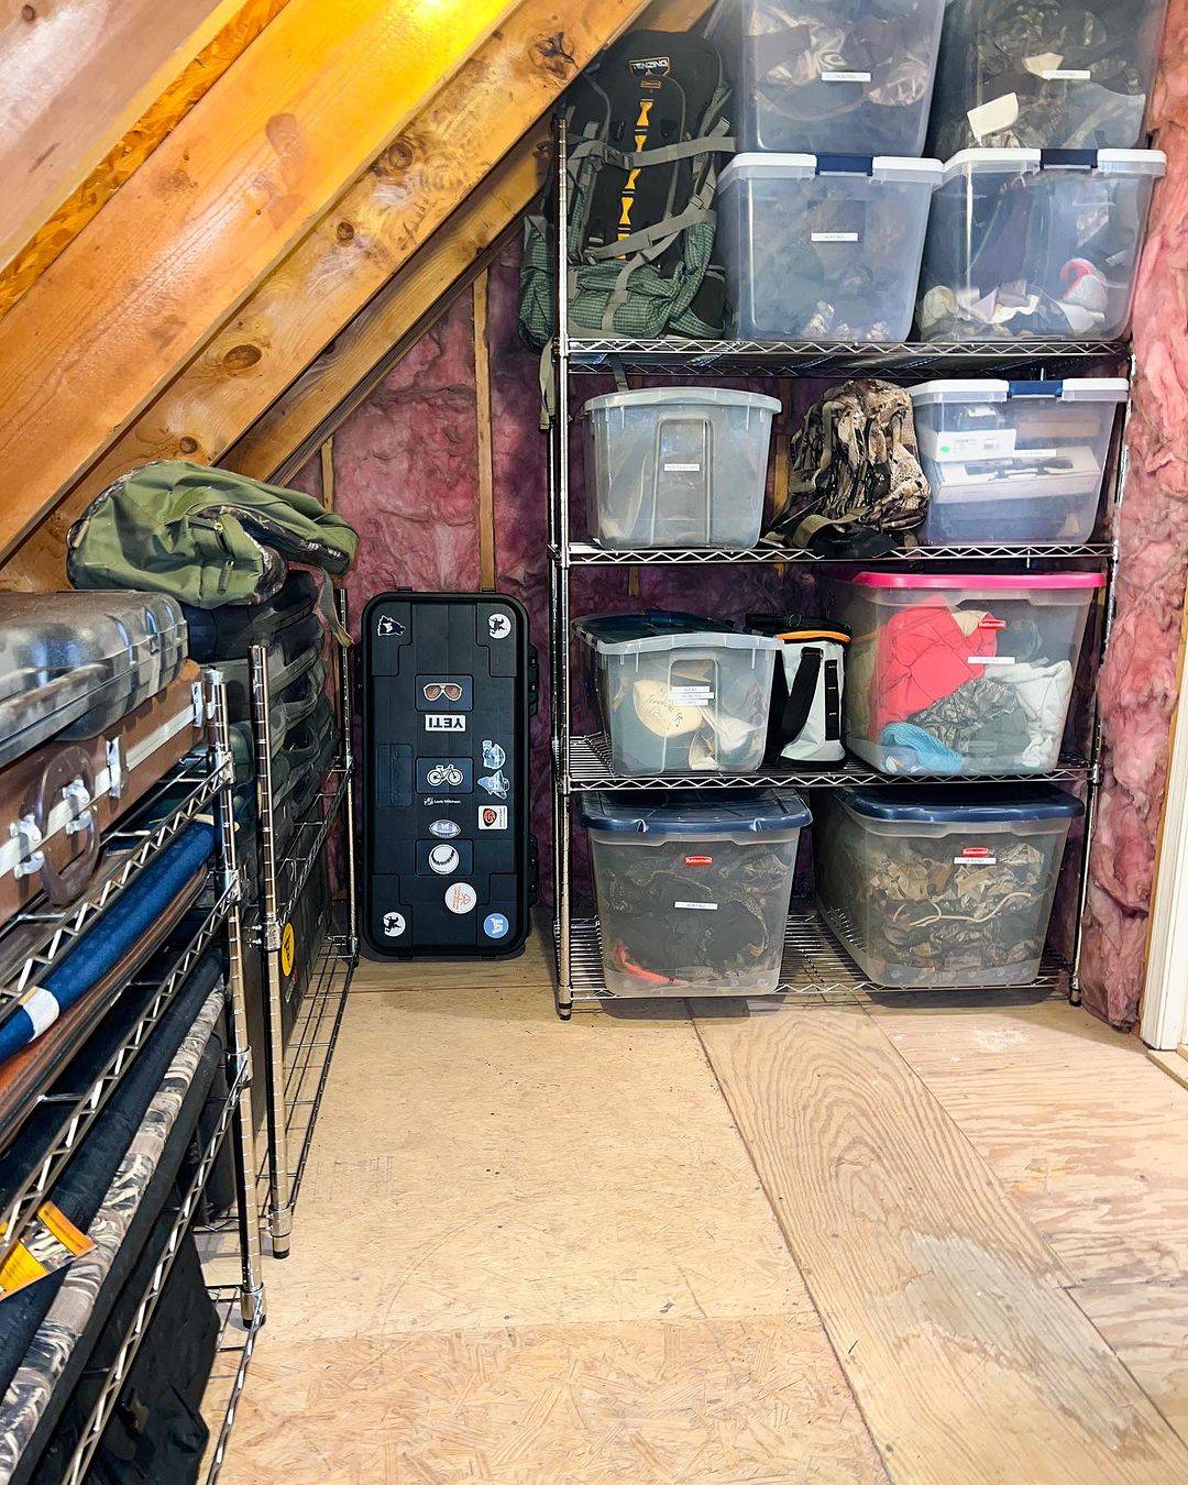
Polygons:
M196 821L146 867L119 898L55 964L42 985L30 986L0 1025L0 1063L48 1031L135 946L214 851L214 826Z

